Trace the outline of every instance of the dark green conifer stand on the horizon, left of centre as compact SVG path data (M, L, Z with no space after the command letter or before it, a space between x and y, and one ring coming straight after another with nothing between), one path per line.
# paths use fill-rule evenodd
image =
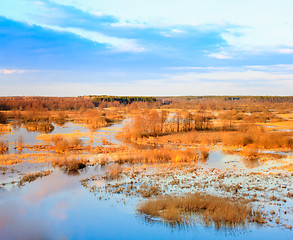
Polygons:
M155 97L131 97L131 96L95 96L90 95L90 99L94 102L95 105L101 102L119 102L120 104L131 104L133 102L155 102L157 99Z

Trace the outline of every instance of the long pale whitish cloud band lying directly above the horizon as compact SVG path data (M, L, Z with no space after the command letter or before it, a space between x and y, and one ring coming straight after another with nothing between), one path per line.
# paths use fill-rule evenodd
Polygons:
M213 77L212 75L210 77ZM45 95L80 96L87 94L142 95L142 96L182 96L182 95L290 95L293 80L269 82L204 81L193 75L185 76L184 84L178 76L158 79L134 80L113 84L111 82L58 82L38 84L32 88L28 84L16 87L5 85L0 95ZM208 76L206 76L208 79Z

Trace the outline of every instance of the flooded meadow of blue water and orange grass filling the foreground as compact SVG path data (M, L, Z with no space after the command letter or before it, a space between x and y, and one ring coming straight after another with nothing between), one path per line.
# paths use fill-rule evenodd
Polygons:
M292 151L135 143L131 121L2 132L1 239L292 239Z

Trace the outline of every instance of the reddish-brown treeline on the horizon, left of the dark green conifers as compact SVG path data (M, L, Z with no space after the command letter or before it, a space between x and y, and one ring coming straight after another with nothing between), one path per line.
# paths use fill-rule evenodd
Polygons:
M94 108L83 97L0 97L0 110L81 110Z

